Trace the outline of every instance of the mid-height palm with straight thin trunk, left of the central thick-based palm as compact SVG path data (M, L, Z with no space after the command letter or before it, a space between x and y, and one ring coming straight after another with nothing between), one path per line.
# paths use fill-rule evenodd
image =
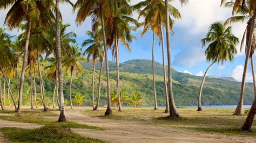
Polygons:
M92 57L92 64L93 64L93 71L92 71L92 109L95 109L95 102L94 102L94 84L95 84L95 65L96 60L99 58L100 54L103 53L103 41L102 41L102 34L100 34L100 30L96 30L95 32L87 31L86 34L91 38L83 41L82 47L87 47L84 51L84 55L87 55L87 62L90 61ZM98 95L99 96L99 95Z

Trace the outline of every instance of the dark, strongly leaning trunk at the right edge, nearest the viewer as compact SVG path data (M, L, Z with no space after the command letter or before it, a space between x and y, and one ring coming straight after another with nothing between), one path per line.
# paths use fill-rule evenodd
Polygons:
M254 115L255 115L255 112L256 112L256 81L255 81L255 71L254 71L254 62L253 62L253 55L251 57L251 66L252 66L252 76L253 76L253 88L254 88L254 100L253 100L253 103L252 103L252 107L248 113L248 116L245 120L245 123L244 125L242 125L242 130L245 130L245 131L250 131L251 128L252 128L252 123L253 123L253 120L254 120Z

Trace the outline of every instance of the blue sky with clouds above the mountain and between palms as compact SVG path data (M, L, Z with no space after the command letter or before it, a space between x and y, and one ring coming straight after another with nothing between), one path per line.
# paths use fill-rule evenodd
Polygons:
M73 3L76 0L71 0ZM131 5L136 4L142 0L131 0ZM220 0L190 0L186 5L181 6L178 0L170 2L175 6L180 14L181 19L174 19L173 26L174 34L171 36L171 61L174 69L192 75L203 76L205 70L210 66L210 62L205 60L204 51L206 47L202 47L200 39L204 38L210 25L213 22L225 22L228 17L231 17L230 8L221 8ZM76 12L72 12L72 6L69 4L61 4L60 11L63 16L63 23L69 23L71 26L68 31L77 33L77 44L81 45L85 39L88 39L86 31L91 30L90 18L87 18L82 25L77 25L75 22ZM0 10L0 26L4 25L6 10ZM132 15L133 18L138 18L136 12ZM142 22L143 19L139 19ZM233 34L239 39L245 31L246 22L239 24L232 24ZM164 30L164 29L163 29ZM131 51L120 45L119 60L125 62L133 59L147 59L152 60L152 32L147 32L142 38L139 37L142 28L133 32L137 37L130 43ZM18 34L17 30L9 31L11 35ZM164 31L165 34L165 31ZM164 35L164 40L166 37ZM166 48L166 45L165 45ZM216 77L233 77L238 81L242 79L242 73L245 63L245 52L240 52L240 44L237 45L238 54L232 62L224 65L215 64L209 71L208 75ZM165 49L165 63L167 64L167 53ZM111 55L111 52L109 52ZM161 45L158 39L155 42L154 60L163 63ZM255 58L254 58L255 59ZM109 60L112 60L109 56ZM250 62L249 62L250 63ZM251 63L250 63L251 64ZM251 65L248 66L246 82L252 82Z

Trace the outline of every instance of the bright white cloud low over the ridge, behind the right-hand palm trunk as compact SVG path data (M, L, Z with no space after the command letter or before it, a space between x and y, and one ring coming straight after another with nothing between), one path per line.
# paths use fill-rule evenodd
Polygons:
M231 77L235 78L235 80L238 80L239 82L242 81L242 73L244 73L244 66L242 65L237 65L232 73L230 74ZM247 70L246 74L246 82L252 82L252 72Z

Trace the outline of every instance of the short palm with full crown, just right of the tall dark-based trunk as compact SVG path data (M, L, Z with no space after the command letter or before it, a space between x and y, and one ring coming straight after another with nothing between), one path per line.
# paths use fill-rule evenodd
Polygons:
M83 71L83 67L80 64L80 61L83 60L82 58L82 48L78 45L72 45L70 49L70 53L65 56L63 60L63 67L67 67L70 69L71 80L70 80L70 106L73 108L72 105L72 80L73 80L73 71L76 70L76 74L78 75Z

